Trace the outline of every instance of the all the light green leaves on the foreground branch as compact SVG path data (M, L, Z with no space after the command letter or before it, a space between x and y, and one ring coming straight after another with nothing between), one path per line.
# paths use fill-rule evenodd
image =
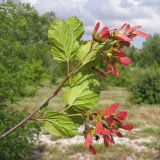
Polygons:
M101 46L92 41L80 41L83 32L83 24L76 17L70 17L66 21L56 20L49 28L48 37L53 44L53 57L57 62L67 62L61 64L66 66L64 70L68 75L74 69L78 70L85 64L90 66L89 62L95 59L99 46ZM92 67L90 66L90 68ZM91 69L83 70L70 78L68 84L63 88L63 98L66 106L64 113L71 114L70 118L63 114L49 113L52 121L47 120L48 117L45 118L45 127L52 134L73 136L75 132L73 134L70 127L82 124L84 119L81 113L94 109L98 104L99 81L94 74L91 74ZM72 121L72 126L66 125L64 128L65 121L69 120ZM55 121L58 121L59 124Z

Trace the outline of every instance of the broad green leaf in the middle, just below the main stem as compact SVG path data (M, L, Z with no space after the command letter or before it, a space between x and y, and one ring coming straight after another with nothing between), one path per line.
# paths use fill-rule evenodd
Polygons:
M92 74L79 73L63 89L63 97L65 104L70 106L68 113L82 113L93 109L99 100L99 82Z

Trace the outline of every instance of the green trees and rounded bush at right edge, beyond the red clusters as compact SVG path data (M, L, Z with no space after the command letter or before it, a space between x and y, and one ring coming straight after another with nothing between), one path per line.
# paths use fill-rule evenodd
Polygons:
M133 59L130 90L134 103L156 104L160 103L160 35L154 34L147 39L142 49L131 47L127 49L128 55Z

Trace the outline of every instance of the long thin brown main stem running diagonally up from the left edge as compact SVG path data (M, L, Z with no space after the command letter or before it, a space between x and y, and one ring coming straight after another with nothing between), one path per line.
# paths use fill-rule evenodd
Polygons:
M90 48L89 52L91 52L91 50L92 50L93 43L94 43L94 41L92 41L92 45L91 45L91 48ZM24 123L26 123L28 120L30 120L40 109L42 109L43 107L45 107L48 104L48 102L59 93L59 91L62 89L62 87L64 86L64 84L70 79L70 77L72 77L75 73L77 73L79 71L79 69L81 68L82 62L87 57L88 53L84 56L84 58L82 59L82 61L74 68L74 70L72 72L70 72L69 74L67 74L67 76L65 77L65 79L61 82L61 84L53 92L53 94L51 96L49 96L42 104L38 105L30 114L28 114L19 123L17 123L15 126L13 126L9 130L7 130L6 132L4 132L2 135L0 135L0 141L3 140L8 135L10 135L13 131L15 131L16 129L18 129L19 127L21 127Z

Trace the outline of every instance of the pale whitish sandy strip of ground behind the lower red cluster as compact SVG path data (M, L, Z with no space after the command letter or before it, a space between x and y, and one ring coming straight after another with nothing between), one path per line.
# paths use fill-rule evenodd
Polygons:
M79 128L79 132L83 130L83 126ZM132 132L139 132L140 129L133 129ZM121 131L123 135L125 135L124 131ZM128 147L131 147L132 149L135 149L138 152L141 151L147 151L150 150L148 149L144 143L150 143L154 138L153 137L145 137L145 138L137 138L137 139L129 139L127 137L114 137L115 143L120 144L120 145L126 145ZM48 146L68 146L68 145L73 145L73 144L82 144L84 143L84 137L81 135L77 135L73 138L61 138L57 140L51 140L51 135L46 135L46 134L41 134L40 136L40 142L42 144L46 144ZM97 144L102 144L103 141L102 139L99 140L98 142L94 142Z

